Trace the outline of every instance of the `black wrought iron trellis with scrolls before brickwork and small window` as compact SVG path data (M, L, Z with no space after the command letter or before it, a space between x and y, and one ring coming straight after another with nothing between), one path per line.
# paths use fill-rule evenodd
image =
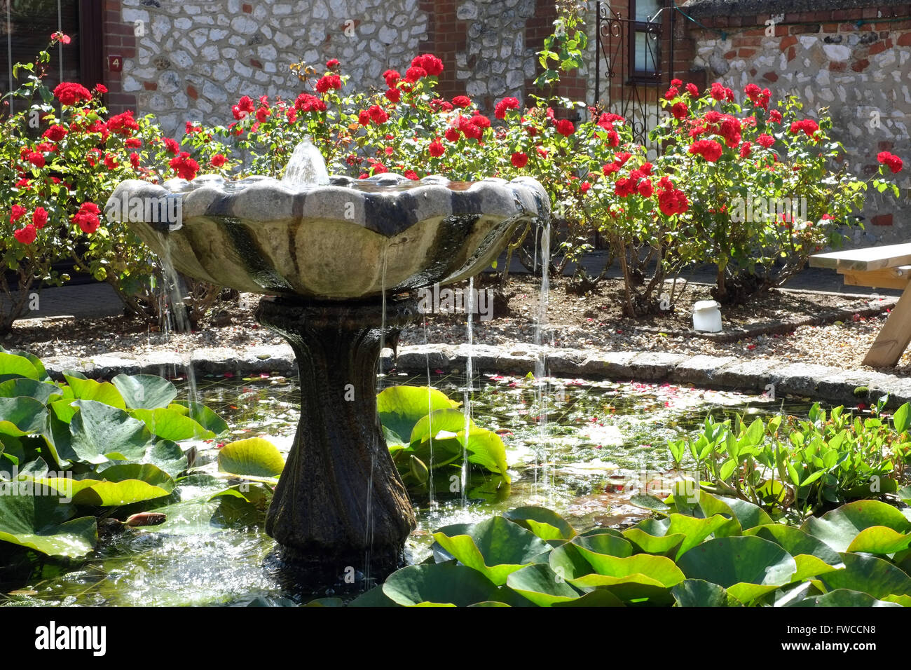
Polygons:
M661 53L665 30L673 35L674 12L665 0L648 20L624 16L609 2L599 2L596 15L595 102L630 120L633 137L649 146L649 130L660 120L660 84L673 72L673 40L668 54ZM645 63L637 69L636 36L644 35ZM603 61L603 62L602 62Z

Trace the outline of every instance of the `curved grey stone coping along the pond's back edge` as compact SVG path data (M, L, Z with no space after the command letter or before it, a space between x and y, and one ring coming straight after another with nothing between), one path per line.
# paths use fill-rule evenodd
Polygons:
M760 394L770 390L778 397L811 397L814 400L855 404L889 394L890 406L911 401L911 378L866 370L809 363L793 363L775 358L740 359L737 356L705 356L649 351L592 351L558 349L535 345L476 345L472 350L477 374L526 375L534 372L538 356L547 356L549 376L613 379L644 382L692 384L697 387L729 389ZM394 360L398 372L425 373L430 369L464 371L467 345L404 346ZM391 350L385 350L384 367L393 365ZM94 378L110 378L118 373L182 376L192 363L198 376L230 373L251 376L263 373L297 374L292 349L288 345L257 346L243 350L228 347L200 348L192 353L154 353L143 358L116 352L79 359L74 356L49 356L47 372L61 378L73 369ZM868 389L861 392L863 388Z

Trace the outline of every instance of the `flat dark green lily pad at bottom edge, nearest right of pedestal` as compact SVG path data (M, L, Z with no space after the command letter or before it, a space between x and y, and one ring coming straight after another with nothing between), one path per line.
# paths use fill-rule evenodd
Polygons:
M383 593L400 605L430 603L466 607L491 600L496 586L465 565L422 563L393 572L383 584Z

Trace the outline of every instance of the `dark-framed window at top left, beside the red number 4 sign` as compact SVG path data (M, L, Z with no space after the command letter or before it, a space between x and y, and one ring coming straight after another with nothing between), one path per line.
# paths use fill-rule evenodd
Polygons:
M13 78L13 66L33 61L56 31L72 41L51 52L48 87L61 81L100 82L100 21L97 0L0 0L0 93L22 83L23 75L19 81Z

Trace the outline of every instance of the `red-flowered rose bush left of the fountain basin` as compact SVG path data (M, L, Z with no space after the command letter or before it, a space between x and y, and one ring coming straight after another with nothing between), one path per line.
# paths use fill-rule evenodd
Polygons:
M56 33L51 45L67 41ZM17 64L15 76L26 74L25 83L0 98L7 109L14 101L16 110L0 125L0 201L8 203L0 239L5 269L17 280L0 279L0 331L26 314L33 289L67 281L53 268L64 260L110 283L130 311L159 321L158 260L125 223L108 221L100 210L121 180L192 179L199 166L179 152L176 140L161 137L151 117L134 118L132 111L108 116L103 86L89 90L64 82L49 90L49 62L45 50L34 63ZM219 150L213 144L209 152ZM201 288L189 286L210 299L212 291ZM190 301L192 318L204 302Z

